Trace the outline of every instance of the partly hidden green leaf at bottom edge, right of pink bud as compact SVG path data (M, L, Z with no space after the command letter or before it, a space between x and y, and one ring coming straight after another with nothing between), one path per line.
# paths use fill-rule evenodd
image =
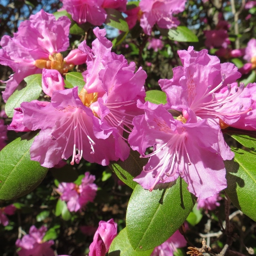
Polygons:
M117 237L112 241L109 248L108 256L150 256L154 249L143 252L136 252L133 250L131 243L127 237L126 228L121 230Z

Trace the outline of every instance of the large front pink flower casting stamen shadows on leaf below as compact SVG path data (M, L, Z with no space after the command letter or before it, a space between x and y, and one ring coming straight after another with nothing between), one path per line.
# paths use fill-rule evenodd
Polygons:
M197 121L192 111L187 112L186 122L183 117L174 120L162 105L146 102L141 108L145 115L133 119L129 143L141 157L150 159L134 181L152 191L157 184L180 176L200 199L227 187L224 162L215 149L218 127L210 126L207 120ZM152 146L153 153L144 155Z

